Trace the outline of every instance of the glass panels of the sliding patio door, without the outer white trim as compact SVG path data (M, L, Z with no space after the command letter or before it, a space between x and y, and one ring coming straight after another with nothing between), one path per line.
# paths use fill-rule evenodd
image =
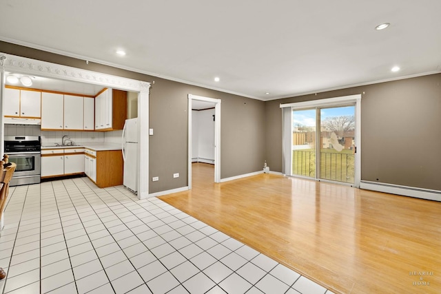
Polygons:
M292 110L292 175L354 183L355 104Z

